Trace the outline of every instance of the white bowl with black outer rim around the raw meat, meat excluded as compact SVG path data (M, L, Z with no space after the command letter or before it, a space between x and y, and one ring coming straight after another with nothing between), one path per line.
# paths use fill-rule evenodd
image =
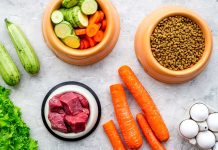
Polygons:
M89 115L89 120L86 125L86 129L83 132L62 133L57 130L53 130L51 128L51 123L48 119L49 100L53 96L57 94L62 94L65 92L79 93L83 95L89 102L90 115ZM65 141L78 141L78 140L81 140L89 136L97 128L100 118L101 118L101 104L95 92L88 86L82 83L79 83L79 82L74 82L74 81L64 82L64 83L56 85L47 93L42 103L41 116L42 116L42 120L43 120L45 127L48 129L48 131L52 135L54 135L55 137L61 140L65 140Z

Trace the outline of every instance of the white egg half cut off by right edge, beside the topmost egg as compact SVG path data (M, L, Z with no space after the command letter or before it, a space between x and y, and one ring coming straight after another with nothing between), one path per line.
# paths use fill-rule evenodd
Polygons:
M211 131L218 132L218 113L210 114L207 124Z

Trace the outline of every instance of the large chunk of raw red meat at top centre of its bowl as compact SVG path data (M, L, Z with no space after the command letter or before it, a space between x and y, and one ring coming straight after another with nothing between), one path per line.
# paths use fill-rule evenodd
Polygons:
M60 101L67 115L76 115L82 112L82 105L78 96L73 92L67 92L60 97Z

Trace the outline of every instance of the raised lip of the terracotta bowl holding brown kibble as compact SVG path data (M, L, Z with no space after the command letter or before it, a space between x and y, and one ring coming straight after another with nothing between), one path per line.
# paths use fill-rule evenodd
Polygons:
M161 7L161 8L166 8L170 11L167 12L163 12L161 13L161 15L159 14L159 16L156 16L156 20L154 23L152 23L149 26L149 29L147 30L148 32L146 32L146 37L145 40L143 40L143 45L144 48L146 49L146 54L148 55L148 57L151 58L152 63L154 63L154 65L161 70L162 72L168 74L168 75L173 75L173 76L184 76L184 75L188 75L191 74L193 72L196 72L197 70L199 70L202 66L207 64L207 61L209 60L210 56L211 56L211 52L212 52L212 33L211 30L209 28L209 26L207 25L207 23L195 12L193 12L190 9L187 9L185 7L181 7L181 6L165 6L165 7ZM161 9L160 8L160 9ZM160 9L156 10L160 11ZM170 17L170 16L184 16L187 18L190 18L193 22L197 23L199 25L199 27L201 28L204 37L205 37L205 50L204 53L201 57L201 59L191 68L185 69L185 70L180 70L180 71L173 71L170 70L168 68L163 67L161 64L159 64L159 62L154 58L152 51L151 51L151 45L150 45L150 36L153 33L155 27L157 26L157 24L163 20L164 18ZM145 22L143 22L141 25L145 24Z

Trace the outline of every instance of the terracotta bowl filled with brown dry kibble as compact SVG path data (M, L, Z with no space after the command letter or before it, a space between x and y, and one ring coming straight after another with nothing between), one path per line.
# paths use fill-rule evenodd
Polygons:
M139 25L135 51L144 70L165 83L193 79L207 66L212 52L212 33L193 11L162 7Z

